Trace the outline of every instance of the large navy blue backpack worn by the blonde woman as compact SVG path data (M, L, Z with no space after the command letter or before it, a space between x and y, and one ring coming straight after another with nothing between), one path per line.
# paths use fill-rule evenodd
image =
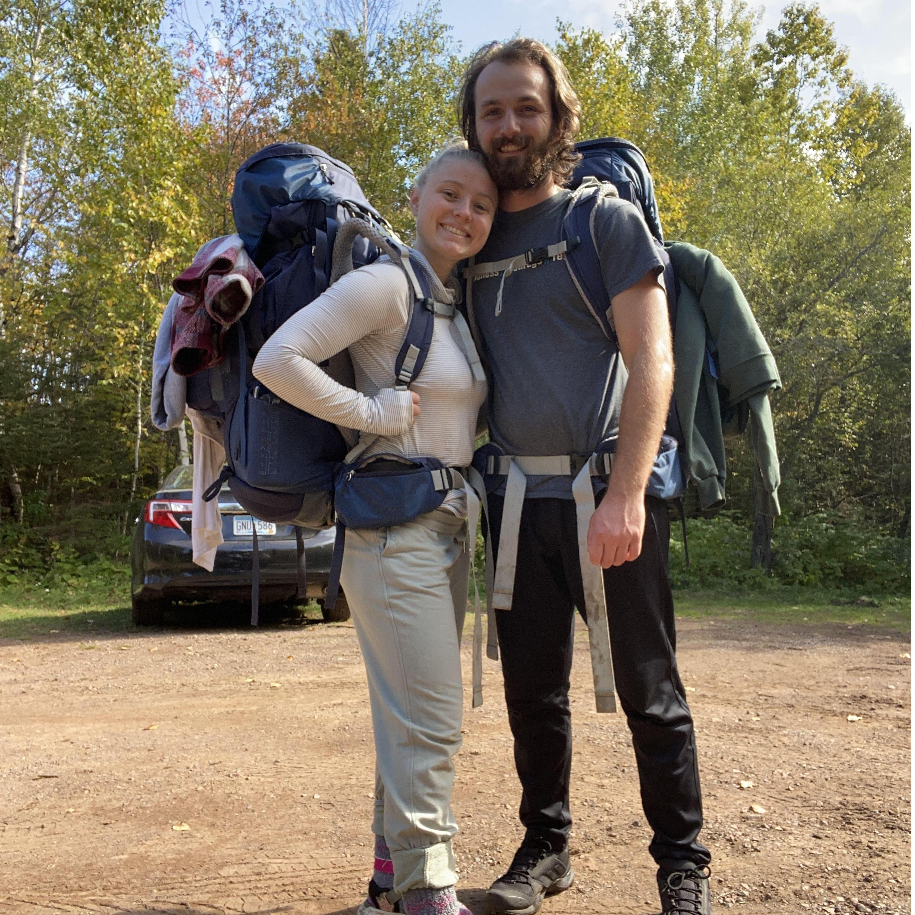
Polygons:
M350 167L316 146L274 143L235 175L232 213L264 286L230 331L221 365L188 379L188 406L223 423L226 466L204 494L229 483L235 499L268 522L323 528L333 523L335 475L350 447L336 425L287 404L253 378L253 358L274 331L340 275L386 253L414 291L412 318L395 362L407 385L422 371L432 341L435 303L425 274L365 199ZM325 368L352 383L346 353ZM300 591L304 547L299 545ZM252 622L258 604L258 544L253 538ZM304 593L304 591L303 591Z

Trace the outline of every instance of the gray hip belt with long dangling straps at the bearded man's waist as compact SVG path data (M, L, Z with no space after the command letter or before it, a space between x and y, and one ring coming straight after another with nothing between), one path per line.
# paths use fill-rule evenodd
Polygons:
M489 580L487 581L487 592L488 595L490 593L492 595L493 605L503 610L511 610L527 477L551 475L575 478L572 482L572 495L576 502L578 561L581 566L581 580L585 594L584 610L591 651L595 704L598 712L615 712L617 702L603 570L600 566L594 565L588 557L587 529L595 510L591 477L608 475L612 463L613 456L609 454L588 457L584 455L547 457L501 455L488 458L486 468L488 475L496 473L507 478L499 534L499 563L496 565L495 580L491 591ZM489 568L490 554L488 553L487 572L489 572Z

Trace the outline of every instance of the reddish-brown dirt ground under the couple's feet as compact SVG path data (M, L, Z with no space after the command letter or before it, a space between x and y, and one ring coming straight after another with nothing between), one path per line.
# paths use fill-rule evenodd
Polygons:
M655 912L629 732L592 711L577 638L577 877L544 912ZM909 652L866 627L681 622L717 911L910 911ZM475 913L521 836L485 664L454 798ZM2 640L0 697L0 911L343 915L364 897L371 722L349 624Z

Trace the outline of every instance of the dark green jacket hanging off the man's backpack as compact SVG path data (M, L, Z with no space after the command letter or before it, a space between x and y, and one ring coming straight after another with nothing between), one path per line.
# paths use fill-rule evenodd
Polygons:
M780 474L769 394L780 390L781 379L769 344L737 280L714 254L685 242L664 247L680 280L673 397L699 504L724 506L725 438L746 428L756 458L757 510L775 517Z

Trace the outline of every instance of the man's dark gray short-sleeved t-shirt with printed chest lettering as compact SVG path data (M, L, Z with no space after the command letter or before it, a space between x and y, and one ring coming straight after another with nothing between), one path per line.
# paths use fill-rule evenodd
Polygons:
M570 191L518 212L499 210L476 263L501 261L562 239ZM660 274L663 264L636 208L604 198L595 214L609 298ZM583 244L590 243L587 239ZM490 371L490 440L508 455L588 454L616 436L627 372L562 260L473 282L472 318ZM501 491L501 490L499 490ZM527 495L572 498L571 477L529 477Z

